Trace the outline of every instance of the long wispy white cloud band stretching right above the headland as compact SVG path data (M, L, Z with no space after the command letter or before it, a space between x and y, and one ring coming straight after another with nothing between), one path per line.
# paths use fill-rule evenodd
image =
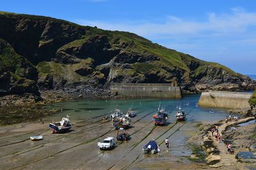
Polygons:
M102 0L94 0L102 1ZM92 25L102 29L129 31L146 37L180 36L186 34L207 34L222 36L234 32L244 32L250 26L256 26L256 13L249 13L242 8L233 8L230 13L209 13L207 20L184 20L175 16L168 16L163 23L151 21L104 22L91 20L77 20L81 25Z

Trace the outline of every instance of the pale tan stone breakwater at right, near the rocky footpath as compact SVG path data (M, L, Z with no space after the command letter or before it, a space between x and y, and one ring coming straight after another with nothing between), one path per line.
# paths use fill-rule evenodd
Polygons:
M200 106L210 106L216 108L250 108L248 100L251 93L244 92L202 92L198 104Z

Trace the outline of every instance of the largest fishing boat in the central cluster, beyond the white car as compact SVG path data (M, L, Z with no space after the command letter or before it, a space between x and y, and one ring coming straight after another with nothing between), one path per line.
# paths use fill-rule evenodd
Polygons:
M116 129L127 129L131 125L131 118L127 115L123 115L122 117L112 117L112 125Z

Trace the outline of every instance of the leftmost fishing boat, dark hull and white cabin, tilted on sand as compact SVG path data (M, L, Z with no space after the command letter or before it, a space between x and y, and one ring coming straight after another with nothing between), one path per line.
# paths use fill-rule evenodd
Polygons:
M65 118L62 118L61 122L55 122L49 124L49 127L52 129L52 133L65 133L68 132L72 127L68 115Z

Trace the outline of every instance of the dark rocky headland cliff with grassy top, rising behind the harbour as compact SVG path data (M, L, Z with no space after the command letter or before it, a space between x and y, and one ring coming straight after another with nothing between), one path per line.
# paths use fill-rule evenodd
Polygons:
M248 76L130 32L7 12L0 25L0 96L104 89L109 82L171 83L185 92L255 88Z

